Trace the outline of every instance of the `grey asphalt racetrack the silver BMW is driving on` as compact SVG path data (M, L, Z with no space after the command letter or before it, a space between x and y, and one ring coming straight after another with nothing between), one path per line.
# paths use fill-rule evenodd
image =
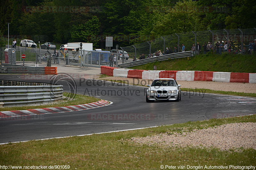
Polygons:
M1 79L50 82L49 76L39 75L1 75ZM90 95L113 103L76 112L0 118L0 143L146 128L256 113L256 99L250 97L197 91L181 92L179 102L147 103L146 87L85 78L60 79L58 84L63 85L66 92L71 88L67 81L74 81L73 90L77 89L77 94Z

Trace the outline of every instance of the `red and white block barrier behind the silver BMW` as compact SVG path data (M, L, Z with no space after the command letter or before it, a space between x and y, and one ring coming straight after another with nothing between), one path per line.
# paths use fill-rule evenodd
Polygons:
M111 71L108 71L111 70ZM217 82L241 82L256 83L256 73L231 73L213 71L156 71L156 70L133 70L101 66L101 74L127 78L174 78L186 81L217 81ZM126 74L127 73L127 74Z

